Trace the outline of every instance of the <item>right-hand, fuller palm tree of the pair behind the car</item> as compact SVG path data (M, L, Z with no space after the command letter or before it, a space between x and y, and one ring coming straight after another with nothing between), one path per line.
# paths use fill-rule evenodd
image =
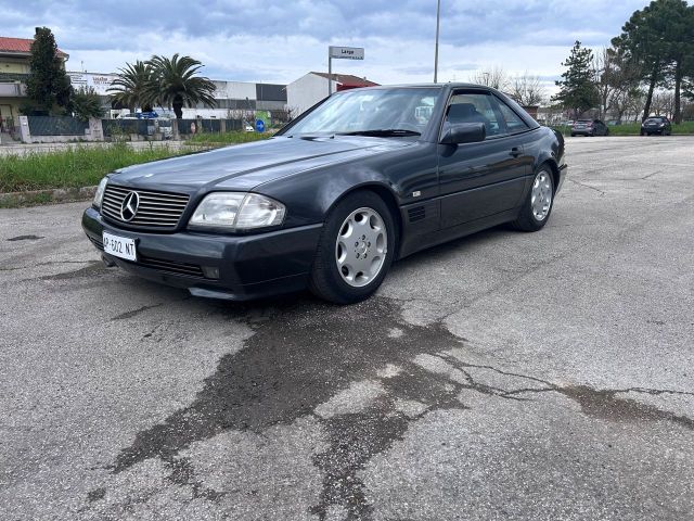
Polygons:
M152 67L147 94L162 106L171 106L178 119L183 117L183 105L215 104L215 84L203 76L195 76L203 66L197 60L177 53L170 59L152 56L146 63Z

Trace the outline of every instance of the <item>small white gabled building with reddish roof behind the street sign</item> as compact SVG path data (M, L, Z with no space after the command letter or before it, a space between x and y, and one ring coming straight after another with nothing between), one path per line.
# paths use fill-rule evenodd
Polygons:
M330 81L332 82L332 92L378 85L351 74L333 74ZM287 85L286 104L287 109L292 111L292 116L298 116L327 97L327 73L308 73Z

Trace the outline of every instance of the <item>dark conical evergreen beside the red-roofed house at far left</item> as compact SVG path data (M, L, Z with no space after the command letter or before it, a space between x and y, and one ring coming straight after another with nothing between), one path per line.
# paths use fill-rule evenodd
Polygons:
M31 102L33 112L50 114L56 106L63 109L59 112L64 112L64 107L69 104L69 78L65 74L53 33L48 27L36 28L26 93Z

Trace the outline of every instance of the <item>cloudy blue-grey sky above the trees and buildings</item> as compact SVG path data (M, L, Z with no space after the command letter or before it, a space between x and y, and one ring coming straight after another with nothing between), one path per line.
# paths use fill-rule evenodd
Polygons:
M501 66L549 84L576 39L601 48L646 0L441 0L439 80ZM0 0L0 36L48 26L67 67L108 73L189 54L213 79L290 82L327 68L327 46L365 48L333 71L380 84L432 81L436 0Z

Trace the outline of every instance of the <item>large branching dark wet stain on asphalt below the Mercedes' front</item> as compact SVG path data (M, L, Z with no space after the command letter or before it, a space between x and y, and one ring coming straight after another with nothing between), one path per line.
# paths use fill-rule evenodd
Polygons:
M221 306L218 312L230 319L241 315L255 333L244 348L220 359L193 403L139 432L117 456L111 467L113 473L149 458L160 458L170 471L170 483L191 486L194 497L219 500L224 492L205 487L196 479L193 463L179 456L180 452L229 429L262 434L273 425L288 425L311 416L320 423L329 448L313 456L323 484L309 513L323 520L332 507L339 507L347 519L361 520L370 519L373 509L361 479L369 461L402 440L411 422L424 415L467 409L459 399L463 390L524 402L535 399L535 393L560 393L579 403L587 416L611 421L669 420L692 429L689 418L617 396L628 390L562 387L538 378L466 364L448 354L464 346L461 339L441 323L423 327L403 321L398 303L386 298L373 297L347 307L299 300L265 309ZM397 335L393 334L395 330ZM423 356L434 365L423 365ZM442 370L437 370L436 364L442 364ZM384 376L386 367L398 370ZM513 377L515 389L480 383L473 377L474 369ZM517 379L526 385L518 385ZM362 410L333 416L316 412L319 405L363 380L378 381L384 393ZM421 412L404 414L398 407L402 401L419 404Z

